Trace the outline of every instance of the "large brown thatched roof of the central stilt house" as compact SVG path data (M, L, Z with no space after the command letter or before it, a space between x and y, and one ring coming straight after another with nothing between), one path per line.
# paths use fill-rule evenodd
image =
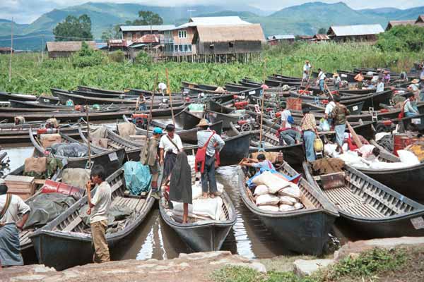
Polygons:
M199 25L193 42L265 41L259 24L252 25Z

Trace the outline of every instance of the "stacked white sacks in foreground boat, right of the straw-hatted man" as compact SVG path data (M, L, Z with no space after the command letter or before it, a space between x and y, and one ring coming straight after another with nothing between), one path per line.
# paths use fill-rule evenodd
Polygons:
M257 185L254 200L259 209L269 212L288 212L302 209L300 189L295 183L265 171L252 181Z

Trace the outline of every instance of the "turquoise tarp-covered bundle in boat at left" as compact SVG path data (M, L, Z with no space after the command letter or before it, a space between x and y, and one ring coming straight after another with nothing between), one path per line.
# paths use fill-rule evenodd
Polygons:
M139 161L126 161L124 178L126 188L131 195L140 195L141 192L148 192L150 189L152 178L150 170Z

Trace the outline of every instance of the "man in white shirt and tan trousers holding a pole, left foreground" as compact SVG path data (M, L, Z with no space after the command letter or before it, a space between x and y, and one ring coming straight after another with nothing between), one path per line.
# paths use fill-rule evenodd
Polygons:
M102 166L94 166L90 173L90 180L86 184L88 195L87 214L90 215L91 238L93 238L94 255L93 262L110 262L109 247L107 246L107 212L112 202L112 189L105 181L105 169ZM91 189L98 185L93 199Z

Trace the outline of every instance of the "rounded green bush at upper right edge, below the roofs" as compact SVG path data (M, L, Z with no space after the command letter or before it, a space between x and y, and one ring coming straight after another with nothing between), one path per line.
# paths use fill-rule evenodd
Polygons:
M424 28L416 25L395 26L378 36L377 47L382 51L423 51Z

